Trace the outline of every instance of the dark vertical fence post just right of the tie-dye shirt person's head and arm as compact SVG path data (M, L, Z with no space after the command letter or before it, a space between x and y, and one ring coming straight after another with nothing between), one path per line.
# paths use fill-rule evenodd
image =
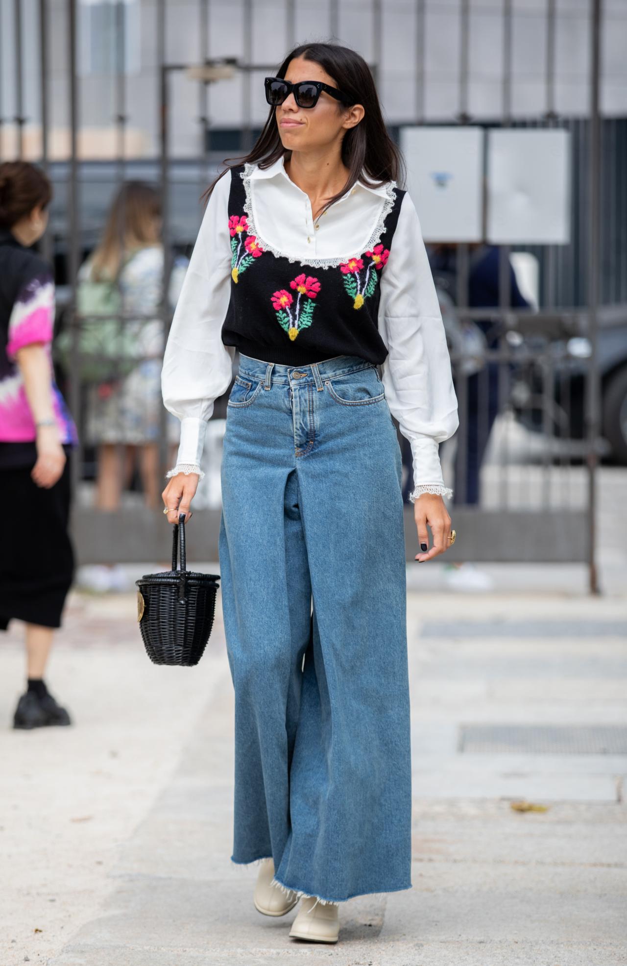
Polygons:
M74 416L80 411L80 366L78 358L78 329L75 325L76 275L80 261L80 218L78 211L78 159L76 131L78 128L78 82L76 76L76 0L67 0L70 62L70 183L68 185L68 283L71 287L71 373L70 409ZM79 434L80 436L80 434ZM71 488L77 493L84 460L84 446L79 440L75 459L71 460Z

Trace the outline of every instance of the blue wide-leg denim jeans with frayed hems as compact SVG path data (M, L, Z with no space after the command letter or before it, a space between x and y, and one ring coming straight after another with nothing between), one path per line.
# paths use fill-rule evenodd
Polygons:
M234 863L341 902L411 889L401 453L376 366L240 356L221 467Z

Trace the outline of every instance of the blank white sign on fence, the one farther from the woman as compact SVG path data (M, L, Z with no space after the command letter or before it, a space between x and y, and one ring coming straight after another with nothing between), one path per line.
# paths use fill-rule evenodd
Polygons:
M493 244L570 241L570 133L488 131L487 236Z

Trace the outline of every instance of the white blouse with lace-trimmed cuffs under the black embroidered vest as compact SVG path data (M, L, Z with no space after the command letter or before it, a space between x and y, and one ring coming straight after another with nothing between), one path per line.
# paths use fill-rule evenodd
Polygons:
M289 177L283 156L271 167L247 164L244 179L248 224L276 255L313 268L339 265L381 232L394 182L366 187L361 181L315 223L311 202ZM177 465L166 476L200 469L214 401L232 380L235 347L220 333L231 298L228 198L231 175L214 187L194 244L170 328L161 391L165 408L181 420ZM452 497L445 487L439 444L459 425L450 357L420 222L409 192L399 212L390 254L380 277L378 327L387 349L381 377L389 410L413 454L414 489Z

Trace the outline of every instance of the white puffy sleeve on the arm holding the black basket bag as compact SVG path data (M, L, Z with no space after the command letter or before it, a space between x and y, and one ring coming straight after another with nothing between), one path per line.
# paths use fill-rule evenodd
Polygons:
M221 330L231 298L228 197L231 174L215 184L195 241L168 334L161 369L166 410L181 420L177 465L166 476L200 469L214 401L226 392L235 348Z

